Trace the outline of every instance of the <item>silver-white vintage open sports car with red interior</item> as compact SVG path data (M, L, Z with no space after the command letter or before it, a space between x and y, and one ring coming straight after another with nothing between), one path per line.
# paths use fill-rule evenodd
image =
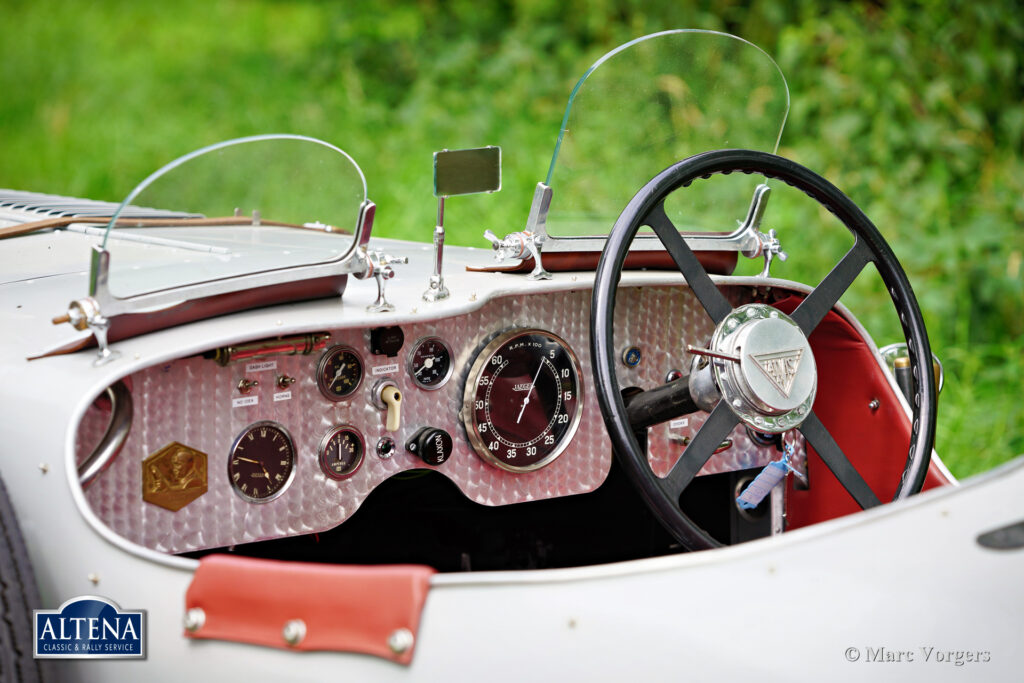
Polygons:
M0 193L0 678L1019 675L1024 465L933 453L910 284L787 111L736 37L623 45L482 248L444 205L498 146L423 243L298 135Z

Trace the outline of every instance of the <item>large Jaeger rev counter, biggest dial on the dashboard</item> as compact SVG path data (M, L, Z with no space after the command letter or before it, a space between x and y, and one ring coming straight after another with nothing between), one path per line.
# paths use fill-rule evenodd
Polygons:
M488 343L469 371L462 416L476 453L509 472L557 458L583 414L580 361L559 337L512 330Z

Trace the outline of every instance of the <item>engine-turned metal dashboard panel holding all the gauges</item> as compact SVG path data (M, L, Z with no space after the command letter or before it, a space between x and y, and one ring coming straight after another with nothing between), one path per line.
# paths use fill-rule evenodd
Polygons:
M712 331L690 291L620 297L622 385L685 373L686 344ZM451 318L317 331L295 354L211 349L147 368L125 380L131 432L86 499L125 539L181 553L332 528L382 481L418 468L488 506L591 492L612 456L592 387L590 300L588 290L509 296ZM655 471L702 419L651 428ZM80 460L106 420L99 402L86 413ZM702 473L773 457L737 430Z

